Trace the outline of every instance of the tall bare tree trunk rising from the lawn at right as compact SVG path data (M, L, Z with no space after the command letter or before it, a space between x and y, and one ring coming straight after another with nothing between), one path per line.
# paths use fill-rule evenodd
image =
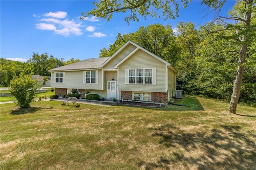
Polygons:
M252 5L252 0L245 0L245 9L249 8ZM245 29L248 29L251 23L251 15L252 15L252 8L249 8L246 10L245 17L244 17L244 25ZM239 53L239 61L238 61L238 67L236 71L236 80L234 81L234 87L233 87L233 93L231 96L231 100L229 103L228 113L236 114L236 107L238 104L238 99L240 96L241 86L242 86L242 79L244 75L244 65L246 59L246 51L247 51L247 43L246 43L246 34L244 34L241 38L241 48Z

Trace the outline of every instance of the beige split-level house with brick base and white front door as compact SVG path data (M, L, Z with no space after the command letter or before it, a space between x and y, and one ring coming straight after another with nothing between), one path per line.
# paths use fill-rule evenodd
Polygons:
M106 99L167 103L176 90L174 67L129 41L111 57L85 59L48 70L51 87L61 96L77 89Z

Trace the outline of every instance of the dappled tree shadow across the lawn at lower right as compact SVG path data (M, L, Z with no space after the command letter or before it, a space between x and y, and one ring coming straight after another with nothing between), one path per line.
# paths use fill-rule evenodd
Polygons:
M169 155L162 155L157 162L140 162L145 169L171 169L182 164L185 169L253 169L256 167L256 145L248 136L239 132L240 126L222 125L210 132L187 132L173 124L162 125L154 130L160 136L160 144L174 148ZM248 132L255 138L256 135ZM180 148L180 149L179 149ZM186 152L186 155L184 155Z

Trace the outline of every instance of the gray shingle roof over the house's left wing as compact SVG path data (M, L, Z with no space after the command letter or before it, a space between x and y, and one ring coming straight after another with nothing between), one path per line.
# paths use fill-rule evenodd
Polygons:
M48 71L68 71L68 70L96 69L96 68L100 68L100 65L102 65L109 58L110 57L85 59L83 61L72 63L72 64L69 64L69 65L64 65L64 66L61 66L61 67L57 67L55 69L50 69Z

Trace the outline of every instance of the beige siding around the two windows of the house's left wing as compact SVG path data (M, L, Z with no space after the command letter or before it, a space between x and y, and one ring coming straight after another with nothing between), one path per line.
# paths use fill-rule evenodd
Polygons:
M94 71L94 70L88 70ZM98 84L85 83L83 81L84 71L63 71L65 72L65 83L54 83L54 74L52 72L51 82L52 87L56 88L71 88L71 89L98 89L102 90L102 70L98 70Z

